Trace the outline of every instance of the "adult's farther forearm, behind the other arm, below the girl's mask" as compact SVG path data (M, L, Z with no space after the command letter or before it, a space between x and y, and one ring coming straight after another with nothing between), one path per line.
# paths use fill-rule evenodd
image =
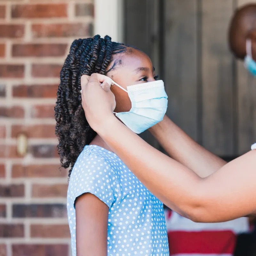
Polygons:
M169 156L202 178L211 175L226 164L220 157L197 144L167 116L149 131Z

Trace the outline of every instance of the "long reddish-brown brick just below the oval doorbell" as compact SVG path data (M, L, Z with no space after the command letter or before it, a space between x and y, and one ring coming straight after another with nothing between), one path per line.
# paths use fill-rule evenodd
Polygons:
M59 165L13 165L12 178L60 178L67 177L68 171Z

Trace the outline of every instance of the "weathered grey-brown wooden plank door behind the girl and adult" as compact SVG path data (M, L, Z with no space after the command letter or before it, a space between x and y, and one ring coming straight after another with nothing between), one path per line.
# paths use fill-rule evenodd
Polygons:
M169 97L167 115L222 157L241 155L256 141L256 78L234 60L227 42L232 13L247 2L126 0L124 5L126 43L156 65ZM148 133L142 137L159 148Z

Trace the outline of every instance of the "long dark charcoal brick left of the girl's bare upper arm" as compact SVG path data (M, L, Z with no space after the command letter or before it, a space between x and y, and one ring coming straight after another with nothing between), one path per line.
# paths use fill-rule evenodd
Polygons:
M13 204L14 218L65 218L66 204Z

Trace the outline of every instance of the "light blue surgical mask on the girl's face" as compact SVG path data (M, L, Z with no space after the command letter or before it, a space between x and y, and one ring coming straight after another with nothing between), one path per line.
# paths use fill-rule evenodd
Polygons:
M168 97L162 80L127 86L127 90L116 85L128 93L132 108L128 112L114 113L133 132L144 132L163 120Z

